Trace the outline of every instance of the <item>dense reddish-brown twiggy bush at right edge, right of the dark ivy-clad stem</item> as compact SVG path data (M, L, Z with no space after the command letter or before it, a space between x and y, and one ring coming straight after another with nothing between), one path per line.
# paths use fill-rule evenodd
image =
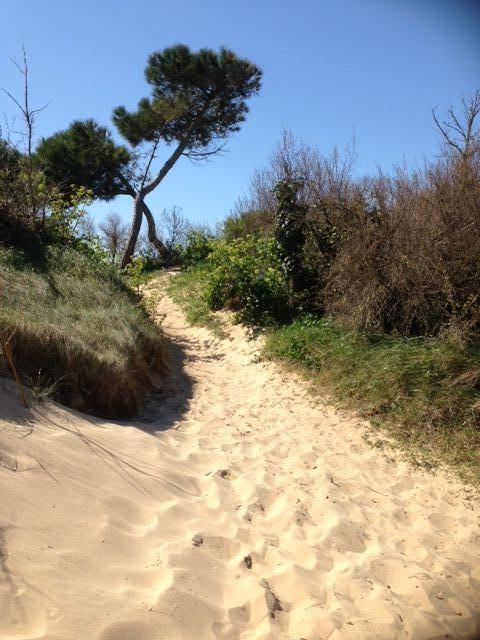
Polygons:
M370 184L328 278L328 310L402 335L480 329L480 155Z

